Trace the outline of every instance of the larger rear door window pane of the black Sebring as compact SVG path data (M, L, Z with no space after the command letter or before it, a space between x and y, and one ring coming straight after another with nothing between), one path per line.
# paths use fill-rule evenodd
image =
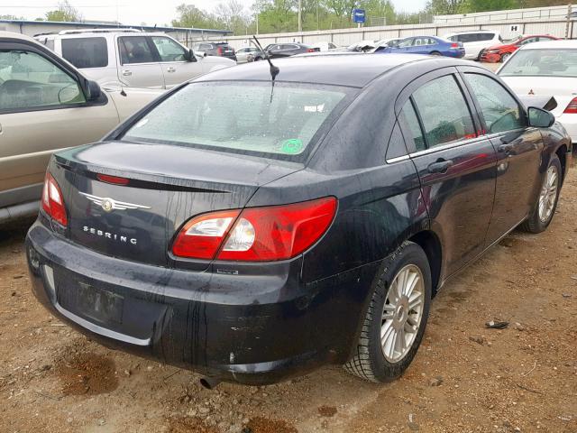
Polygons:
M453 75L435 78L413 93L428 147L475 137L471 113Z

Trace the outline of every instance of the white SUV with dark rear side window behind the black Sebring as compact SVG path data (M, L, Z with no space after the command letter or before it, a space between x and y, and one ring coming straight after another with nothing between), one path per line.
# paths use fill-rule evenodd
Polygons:
M66 30L36 36L90 79L102 85L173 88L232 60L195 55L162 32L137 30Z

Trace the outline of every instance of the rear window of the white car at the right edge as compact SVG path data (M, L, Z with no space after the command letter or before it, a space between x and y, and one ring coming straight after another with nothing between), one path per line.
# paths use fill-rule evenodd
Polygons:
M577 77L577 50L520 50L499 71L501 77Z

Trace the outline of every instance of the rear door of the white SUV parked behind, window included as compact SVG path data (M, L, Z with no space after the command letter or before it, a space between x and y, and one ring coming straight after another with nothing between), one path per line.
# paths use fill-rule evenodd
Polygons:
M118 36L118 79L130 88L164 88L164 75L147 36Z

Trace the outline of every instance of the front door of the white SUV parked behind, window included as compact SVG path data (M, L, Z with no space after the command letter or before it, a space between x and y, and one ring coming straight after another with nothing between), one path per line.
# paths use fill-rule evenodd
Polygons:
M188 61L188 52L179 42L167 36L151 36L160 58L165 88L174 88L188 79L202 75L202 66L196 57Z

